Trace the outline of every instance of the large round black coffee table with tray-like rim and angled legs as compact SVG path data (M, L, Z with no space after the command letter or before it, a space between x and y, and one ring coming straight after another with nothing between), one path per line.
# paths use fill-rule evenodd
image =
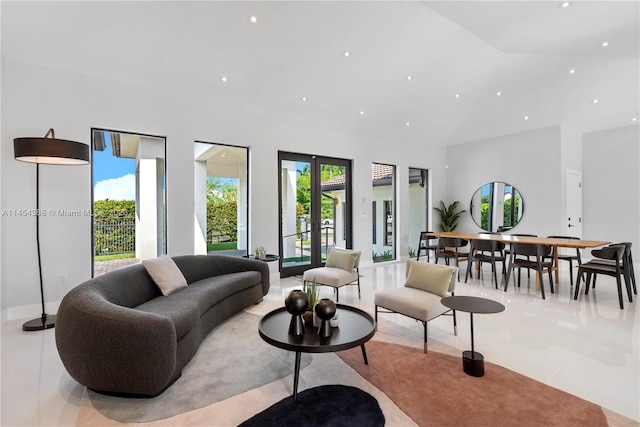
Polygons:
M300 378L300 357L302 353L331 353L347 350L356 346L362 348L365 365L368 364L364 343L376 332L376 322L367 312L356 307L336 304L340 324L331 328L331 336L323 338L317 329L305 326L304 335L289 334L291 314L284 307L266 314L258 325L258 332L269 344L285 350L295 351L296 361L293 375L293 400L298 396Z

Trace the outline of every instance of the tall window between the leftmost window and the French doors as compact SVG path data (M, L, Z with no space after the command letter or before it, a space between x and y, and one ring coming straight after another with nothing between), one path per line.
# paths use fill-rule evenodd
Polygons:
M195 253L247 255L248 155L246 147L195 143Z

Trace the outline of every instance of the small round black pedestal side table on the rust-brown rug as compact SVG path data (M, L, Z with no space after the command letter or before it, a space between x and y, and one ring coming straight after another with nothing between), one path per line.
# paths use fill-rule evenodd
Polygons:
M471 315L471 351L462 352L462 369L467 375L481 377L484 375L484 356L475 351L473 345L473 313L490 314L504 311L504 305L499 302L469 296L452 296L440 301L445 307L456 311L465 311Z

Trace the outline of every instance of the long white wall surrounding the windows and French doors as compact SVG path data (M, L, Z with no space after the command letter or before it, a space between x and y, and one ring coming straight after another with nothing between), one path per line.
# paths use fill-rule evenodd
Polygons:
M443 147L429 148L429 141L411 143L398 135L356 134L304 111L264 111L251 99L224 98L224 93L159 91L3 60L2 208L35 206L35 166L13 159L13 138L41 136L50 127L59 138L87 144L92 127L166 137L170 255L194 252L196 140L250 147L252 245L278 247L278 150L353 159L354 247L362 248L365 263L371 257L371 163L395 164L402 171L430 169L434 200L444 197ZM90 209L90 166L43 166L41 171L43 208ZM3 320L39 315L34 218L4 216L1 227ZM402 230L398 247L406 255ZM91 218L44 218L41 241L47 311L55 312L64 294L90 277ZM275 264L269 264L272 272Z

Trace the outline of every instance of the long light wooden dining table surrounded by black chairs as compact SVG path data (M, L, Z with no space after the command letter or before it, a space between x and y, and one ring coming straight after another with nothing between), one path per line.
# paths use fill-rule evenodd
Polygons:
M513 236L510 234L490 234L490 233L466 233L460 231L441 231L429 233L435 237L450 237L459 238L465 240L493 240L506 244L511 243L529 243L529 244L541 244L549 245L554 248L553 250L553 267L555 272L556 283L560 280L558 272L558 248L574 248L574 249L587 249L597 248L599 246L605 246L610 244L609 241L604 240L587 240L587 239L562 239L558 237L532 237L532 236ZM539 279L536 279L536 289L539 289Z

